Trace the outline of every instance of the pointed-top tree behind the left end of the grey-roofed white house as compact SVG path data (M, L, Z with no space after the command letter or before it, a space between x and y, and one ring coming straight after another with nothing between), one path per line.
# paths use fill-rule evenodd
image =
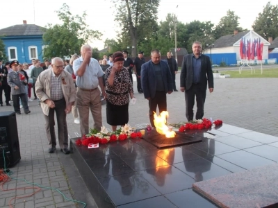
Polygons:
M238 19L240 19L240 17L238 17L234 11L228 10L227 15L222 17L218 25L215 26L215 40L224 35L234 34L235 30L238 32L245 31L243 28L239 27Z

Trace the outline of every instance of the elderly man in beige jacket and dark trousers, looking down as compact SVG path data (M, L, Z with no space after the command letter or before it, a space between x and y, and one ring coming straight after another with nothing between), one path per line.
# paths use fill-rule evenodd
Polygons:
M67 114L72 110L75 101L75 87L72 74L63 70L64 62L56 57L51 61L51 69L44 70L35 83L35 92L41 103L45 119L45 130L49 141L49 153L56 151L55 120L58 125L60 151L70 154L67 134Z

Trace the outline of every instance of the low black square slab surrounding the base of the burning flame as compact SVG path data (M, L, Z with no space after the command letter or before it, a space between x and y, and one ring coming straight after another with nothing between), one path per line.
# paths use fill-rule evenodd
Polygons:
M156 130L146 131L142 138L157 148L170 148L202 141L202 137L199 135L188 135L181 132L176 132L174 138L166 138L165 135L158 134Z

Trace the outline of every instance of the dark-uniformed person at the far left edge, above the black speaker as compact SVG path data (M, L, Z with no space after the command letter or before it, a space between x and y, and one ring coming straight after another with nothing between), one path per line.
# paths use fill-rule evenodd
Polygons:
M3 66L3 60L0 60L0 105L3 106L2 94L5 93L6 105L10 106L10 86L8 85L8 69Z

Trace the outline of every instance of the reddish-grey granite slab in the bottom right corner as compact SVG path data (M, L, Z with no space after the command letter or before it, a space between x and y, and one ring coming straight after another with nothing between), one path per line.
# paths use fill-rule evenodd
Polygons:
M193 184L220 207L277 206L278 165L273 164Z

